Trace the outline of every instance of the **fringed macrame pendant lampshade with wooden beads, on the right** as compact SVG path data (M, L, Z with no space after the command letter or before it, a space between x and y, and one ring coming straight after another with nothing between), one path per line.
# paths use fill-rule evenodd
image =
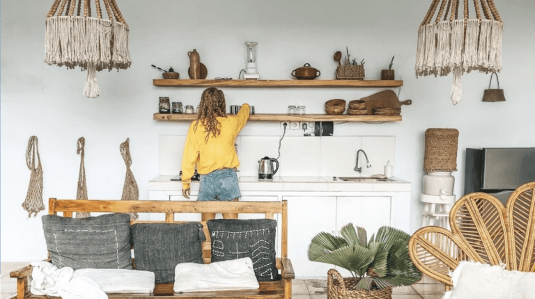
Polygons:
M461 1L464 17L458 19ZM473 1L476 19L470 19L469 0L433 0L418 29L416 76L447 76L453 72L453 104L460 102L463 73L502 70L502 18L493 0ZM435 22L431 22L437 9Z

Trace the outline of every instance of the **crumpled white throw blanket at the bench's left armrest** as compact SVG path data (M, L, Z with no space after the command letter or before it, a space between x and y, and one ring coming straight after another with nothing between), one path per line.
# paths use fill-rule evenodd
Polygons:
M107 299L108 296L93 280L77 275L72 268L57 268L46 261L31 263L31 293L61 296L63 299Z

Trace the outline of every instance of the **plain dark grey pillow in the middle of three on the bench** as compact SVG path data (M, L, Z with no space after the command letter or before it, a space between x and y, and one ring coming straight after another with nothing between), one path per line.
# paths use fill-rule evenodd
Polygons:
M174 282L177 264L203 264L201 223L140 223L132 236L136 270L153 272L158 283Z

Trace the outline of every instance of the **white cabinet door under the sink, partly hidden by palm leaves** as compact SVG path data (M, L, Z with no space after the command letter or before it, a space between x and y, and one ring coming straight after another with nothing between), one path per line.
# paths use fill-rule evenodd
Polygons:
M364 227L368 240L376 234L379 227L390 225L390 197L336 197L336 234L340 236L341 228L352 223ZM351 273L336 267L343 277Z

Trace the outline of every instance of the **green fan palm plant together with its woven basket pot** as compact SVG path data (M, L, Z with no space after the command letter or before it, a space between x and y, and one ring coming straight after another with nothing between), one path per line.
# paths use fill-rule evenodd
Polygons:
M367 241L366 230L352 223L341 229L341 237L326 232L316 235L308 250L309 260L349 270L353 277L342 278L338 271L327 273L328 297L385 298L394 286L421 280L420 271L409 257L410 236L393 227L381 227Z

